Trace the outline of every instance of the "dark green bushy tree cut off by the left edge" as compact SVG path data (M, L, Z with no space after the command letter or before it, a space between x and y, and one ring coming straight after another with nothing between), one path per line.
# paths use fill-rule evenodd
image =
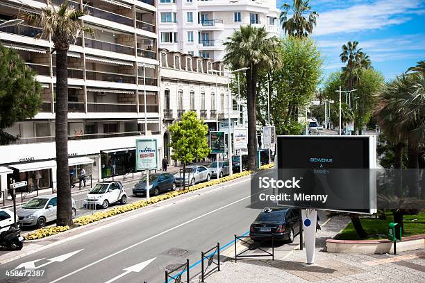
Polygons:
M13 49L0 44L0 144L17 139L4 129L13 123L32 118L42 103L41 85L35 72L26 67L25 61Z

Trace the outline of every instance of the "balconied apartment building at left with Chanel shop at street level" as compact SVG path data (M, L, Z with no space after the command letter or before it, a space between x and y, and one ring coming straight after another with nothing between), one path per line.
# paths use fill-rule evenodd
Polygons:
M56 6L62 2L53 0ZM158 139L163 155L156 1L72 0L69 5L87 9L83 24L94 30L69 47L69 166L85 166L94 179L134 171L136 139ZM44 0L2 0L0 23L44 6ZM15 49L37 73L43 101L33 119L6 129L19 139L0 146L4 192L10 180L56 187L56 55L53 43L38 37L41 31L26 22L0 28L1 44Z

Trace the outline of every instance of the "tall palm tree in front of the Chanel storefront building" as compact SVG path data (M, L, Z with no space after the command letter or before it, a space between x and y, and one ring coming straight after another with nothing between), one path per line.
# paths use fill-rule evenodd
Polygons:
M83 10L75 10L64 1L58 8L49 5L41 9L40 14L30 13L24 18L31 24L43 29L42 36L53 41L56 51L56 164L58 187L57 225L73 225L71 186L68 166L68 71L67 52L70 42L76 42L78 36L90 28L83 27L80 17L87 15Z

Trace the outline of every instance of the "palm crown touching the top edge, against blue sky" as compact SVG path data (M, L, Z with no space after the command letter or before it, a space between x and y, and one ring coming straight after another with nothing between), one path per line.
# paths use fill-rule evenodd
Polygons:
M311 10L310 0L294 0L292 6L284 3L281 6L281 15L279 16L282 29L285 34L297 37L307 37L313 33L319 14ZM292 10L292 17L288 19L288 12ZM305 15L309 13L308 15Z

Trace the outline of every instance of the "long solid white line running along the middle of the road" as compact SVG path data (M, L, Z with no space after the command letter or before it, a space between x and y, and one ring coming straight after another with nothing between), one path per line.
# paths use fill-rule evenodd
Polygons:
M113 254L108 255L107 257L103 257L102 259L99 259L99 260L97 260L97 261L94 261L94 262L92 262L91 264L88 264L88 265L86 265L86 266L83 266L83 267L81 267L81 268L78 268L76 271L72 271L71 273L68 273L68 274L66 274L66 275L63 275L62 277L59 277L58 279L53 280L53 281L51 281L50 283L55 283L55 282L58 282L58 281L60 281L60 280L63 280L63 279L65 279L66 277L69 277L69 276L71 276L71 275L74 275L75 273L78 273L78 272L80 272L80 271L83 271L83 270L84 270L84 269L86 269L86 268L89 268L90 266L94 266L95 264L99 264L99 262L101 262L101 261L104 261L104 260L106 260L106 259L109 259L110 257L114 257L115 255L119 255L120 253L125 252L126 250L130 250L131 248L134 248L135 246L138 246L138 245L140 245L141 243L145 243L145 242L147 242L147 241L150 241L151 239L155 239L156 237L160 237L160 236L161 236L161 235L163 235L163 234L166 234L166 233L168 233L168 232L171 232L171 231L173 231L173 230L176 230L177 228L181 228L182 226L187 225L187 224L189 224L189 223L191 223L191 222L193 222L193 221L197 221L199 218L202 218L202 217L208 216L208 215L210 215L210 214L213 214L213 213L215 213L215 212L218 212L219 210L224 209L224 208L226 208L226 207L229 207L229 206L231 206L231 205L234 205L235 203L240 203L242 200L246 200L247 198L251 198L251 196L245 196L244 198L241 198L240 200L235 200L233 203L228 203L227 205L224 205L224 206L222 206L222 207L219 207L219 208L217 208L217 209L214 209L214 210L212 210L212 211L210 211L210 212L207 212L206 214L202 214L202 215L200 215L200 216L197 216L197 217L195 217L195 218L192 218L192 219L190 219L190 220L188 220L188 221L185 221L185 222L183 222L183 223L181 223L181 224L179 224L179 225L177 225L177 226L174 226L173 228L169 228L169 229L167 229L167 230L165 230L165 231L163 231L163 232L160 232L160 233L158 233L158 234L156 234L156 235L153 235L152 237L149 237L149 238L147 238L147 239L144 239L143 241L140 241L140 242L138 242L138 243L134 243L133 245L128 246L127 248L124 248L124 249L122 249L122 250L118 250L117 252L114 252Z

